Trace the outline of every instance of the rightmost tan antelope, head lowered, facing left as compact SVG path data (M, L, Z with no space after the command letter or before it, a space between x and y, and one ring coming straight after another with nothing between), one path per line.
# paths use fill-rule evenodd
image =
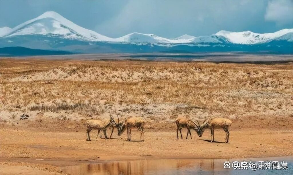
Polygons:
M197 121L198 123L198 121ZM199 124L199 123L198 123ZM214 129L223 129L226 132L226 139L225 143L228 143L229 141L229 127L231 126L232 121L227 118L213 118L213 119L205 119L205 121L200 125L200 128L197 132L198 136L202 136L202 133L205 131L205 129L209 128L211 129L211 142L214 142Z

